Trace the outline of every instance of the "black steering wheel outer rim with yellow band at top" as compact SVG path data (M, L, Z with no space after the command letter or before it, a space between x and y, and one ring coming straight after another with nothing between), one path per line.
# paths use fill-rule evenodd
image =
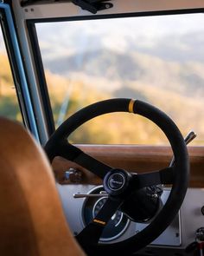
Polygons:
M149 226L128 240L111 245L99 245L96 248L92 248L92 252L97 251L98 254L107 252L121 253L121 250L124 248L125 253L132 253L143 248L143 246L150 244L152 240L155 240L157 236L163 233L166 227L169 226L171 221L175 218L188 188L188 151L181 132L176 127L174 121L172 121L168 115L164 114L163 111L141 101L134 101L131 99L111 99L97 102L81 109L69 117L67 121L64 121L49 139L45 146L45 151L48 154L49 160L52 161L54 156L61 155L58 152L58 149L63 146L63 143L61 142L67 140L67 137L73 133L76 128L79 128L84 122L89 121L98 115L112 112L129 112L142 115L153 121L163 130L175 155L174 181L169 194L169 199ZM70 154L72 154L71 151L72 150L70 150Z

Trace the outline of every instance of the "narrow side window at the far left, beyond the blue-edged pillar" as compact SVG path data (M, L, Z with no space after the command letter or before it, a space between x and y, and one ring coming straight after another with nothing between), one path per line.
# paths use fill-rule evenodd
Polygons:
M0 25L0 116L22 122L16 88L12 78L9 58L3 42Z

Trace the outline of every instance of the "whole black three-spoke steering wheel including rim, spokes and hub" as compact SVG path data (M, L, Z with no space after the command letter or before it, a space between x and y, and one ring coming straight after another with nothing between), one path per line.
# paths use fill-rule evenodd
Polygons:
M148 174L131 174L125 170L112 168L80 148L70 144L68 136L84 122L92 118L112 112L129 112L142 115L161 128L167 136L175 156L173 167L153 171ZM94 103L81 109L64 121L50 137L45 146L49 161L55 156L62 156L69 161L85 167L103 179L108 199L96 217L77 236L76 239L88 255L104 255L105 253L121 253L125 255L150 244L169 226L179 211L188 188L188 151L182 134L168 115L148 103L131 99L111 99ZM114 181L115 180L115 183ZM111 182L113 181L113 182ZM106 223L112 215L125 203L130 194L143 187L158 184L172 184L166 204L156 215L149 226L131 238L112 244L100 244L99 238ZM135 206L137 207L137 206ZM115 254L114 254L115 255ZM120 255L120 254L119 254Z

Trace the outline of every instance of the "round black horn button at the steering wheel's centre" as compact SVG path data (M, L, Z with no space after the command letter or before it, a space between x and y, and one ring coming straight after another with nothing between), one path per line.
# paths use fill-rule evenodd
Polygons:
M112 169L105 175L105 191L110 195L124 194L129 185L131 174L122 169Z

